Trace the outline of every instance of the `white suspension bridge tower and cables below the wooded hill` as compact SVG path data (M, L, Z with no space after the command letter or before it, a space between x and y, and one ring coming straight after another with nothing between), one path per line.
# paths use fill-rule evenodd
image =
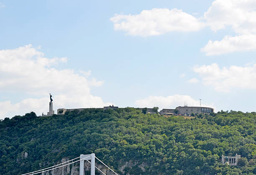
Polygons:
M26 173L26 174L22 174L22 175L36 175L36 174L40 174L41 175L46 175L46 173L51 173L52 175L54 175L54 170L55 173L57 171L57 169L62 170L62 175L64 175L64 167L71 165L72 164L72 169L71 169L71 175L74 175L74 163L80 162L80 166L79 166L79 175L84 175L84 161L86 160L87 162L89 162L91 164L91 175L95 175L95 168L100 171L100 173L106 175L105 173L102 172L102 170L100 170L99 168L97 168L95 166L95 158L100 161L100 163L102 163L106 168L108 168L109 170L111 170L115 175L118 175L117 173L115 173L111 168L109 168L105 163L103 163L100 159L98 159L94 153L92 154L88 154L88 155L83 155L81 154L80 157L74 158L72 160L68 160L67 162L64 163L60 163L58 165L54 165L52 167L48 167L48 168L44 168L41 170L37 170L37 171L33 171L31 173ZM90 160L90 161L89 161ZM107 169L107 170L108 170ZM56 175L56 174L55 174Z

